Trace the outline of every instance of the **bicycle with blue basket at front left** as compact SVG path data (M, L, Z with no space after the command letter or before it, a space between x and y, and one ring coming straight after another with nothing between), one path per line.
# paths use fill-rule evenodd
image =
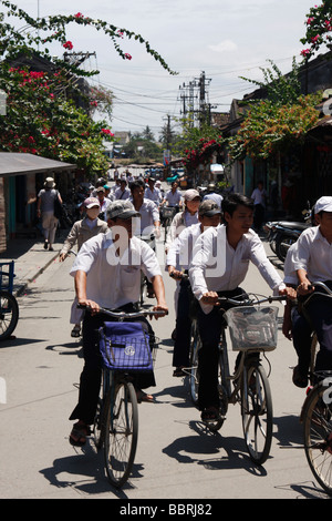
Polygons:
M120 489L131 474L137 448L138 408L133 374L153 370L156 348L155 338L143 330L141 323L125 320L164 315L164 311L124 313L104 308L100 311L117 321L104 323L100 329L102 385L93 435L96 449L104 448L106 476ZM124 324L131 334L123 334Z

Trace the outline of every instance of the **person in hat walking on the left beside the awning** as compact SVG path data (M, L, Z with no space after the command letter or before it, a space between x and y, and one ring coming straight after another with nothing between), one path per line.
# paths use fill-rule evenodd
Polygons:
M56 197L60 203L62 203L61 195L58 190L55 190L53 177L46 177L44 188L38 194L37 216L42 219L44 249L49 249L50 252L53 252L53 243L59 222L54 215L54 202Z

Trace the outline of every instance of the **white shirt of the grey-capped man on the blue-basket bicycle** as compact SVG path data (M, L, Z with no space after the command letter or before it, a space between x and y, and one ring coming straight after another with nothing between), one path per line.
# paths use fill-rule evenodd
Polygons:
M86 241L72 266L71 275L87 274L86 297L100 306L116 309L139 300L141 269L147 278L162 275L154 251L137 237L122 257L116 255L112 232Z

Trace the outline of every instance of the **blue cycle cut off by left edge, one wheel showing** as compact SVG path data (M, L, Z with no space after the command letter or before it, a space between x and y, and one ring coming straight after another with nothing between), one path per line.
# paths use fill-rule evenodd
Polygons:
M12 294L14 276L13 260L0 263L0 340L10 337L19 320L19 305Z

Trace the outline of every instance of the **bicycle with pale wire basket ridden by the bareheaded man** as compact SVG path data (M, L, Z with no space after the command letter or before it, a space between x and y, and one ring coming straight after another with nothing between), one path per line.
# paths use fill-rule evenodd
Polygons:
M222 315L222 330L219 341L218 389L220 410L216 420L205 421L211 431L221 428L228 406L240 403L242 429L250 459L256 464L263 464L269 457L272 442L272 396L269 379L261 365L260 354L271 351L277 347L278 308L260 307L260 304L280 302L284 296L257 296L238 300L219 297L219 303L234 306ZM198 351L201 340L197 323L194 324L191 349L190 391L194 403L198 399L199 368ZM229 328L232 350L239 351L235 372L229 369L226 329ZM267 357L266 357L267 359ZM231 389L231 382L234 389Z

